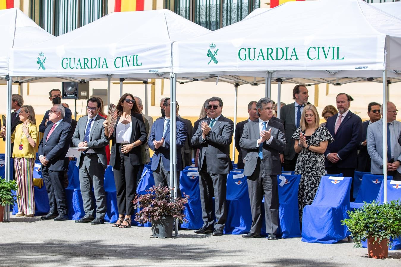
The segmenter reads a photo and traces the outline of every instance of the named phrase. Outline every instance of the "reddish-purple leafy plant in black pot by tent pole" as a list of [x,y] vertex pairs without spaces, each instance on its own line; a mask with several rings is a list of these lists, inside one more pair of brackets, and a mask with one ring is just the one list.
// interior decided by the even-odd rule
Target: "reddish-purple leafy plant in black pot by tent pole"
[[[173,188],[174,189],[174,188]],[[168,187],[153,186],[146,190],[144,195],[136,195],[134,201],[135,208],[142,208],[136,213],[135,221],[139,223],[152,223],[153,237],[171,238],[173,233],[174,220],[188,222],[181,213],[185,204],[188,203],[188,195],[183,198],[178,197],[174,202],[170,197],[171,189]]]

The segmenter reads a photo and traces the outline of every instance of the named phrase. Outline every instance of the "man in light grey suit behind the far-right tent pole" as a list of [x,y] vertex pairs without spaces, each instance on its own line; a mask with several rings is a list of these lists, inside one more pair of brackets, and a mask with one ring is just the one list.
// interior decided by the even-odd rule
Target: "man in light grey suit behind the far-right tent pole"
[[[387,102],[387,174],[393,180],[401,181],[401,145],[397,142],[401,132],[401,122],[397,118],[397,108],[393,102]],[[380,107],[383,115],[383,105]],[[371,173],[383,174],[383,118],[369,124],[367,147],[371,156]]]

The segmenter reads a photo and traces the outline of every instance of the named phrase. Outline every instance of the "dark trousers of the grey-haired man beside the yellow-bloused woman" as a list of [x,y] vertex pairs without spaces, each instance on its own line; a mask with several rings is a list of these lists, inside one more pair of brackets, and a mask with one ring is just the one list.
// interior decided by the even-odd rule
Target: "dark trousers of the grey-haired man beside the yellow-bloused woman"
[[44,167],[42,169],[42,176],[49,198],[50,212],[53,214],[68,215],[63,186],[64,171],[50,171],[47,167]]

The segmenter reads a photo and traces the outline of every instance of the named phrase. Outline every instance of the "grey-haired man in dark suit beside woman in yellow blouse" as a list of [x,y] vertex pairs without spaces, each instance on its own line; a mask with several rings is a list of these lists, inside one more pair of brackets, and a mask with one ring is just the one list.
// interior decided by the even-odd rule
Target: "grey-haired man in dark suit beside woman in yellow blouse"
[[50,211],[42,220],[68,220],[65,192],[62,185],[63,173],[68,167],[67,154],[73,135],[71,124],[63,120],[65,110],[62,105],[54,105],[49,111],[49,121],[43,139],[39,144],[38,159],[42,163],[42,176],[49,197]]

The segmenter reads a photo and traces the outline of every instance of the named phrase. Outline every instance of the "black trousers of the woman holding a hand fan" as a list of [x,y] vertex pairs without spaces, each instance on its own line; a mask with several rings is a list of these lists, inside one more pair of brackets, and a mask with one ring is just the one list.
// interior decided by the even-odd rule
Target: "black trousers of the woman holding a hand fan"
[[136,177],[140,165],[131,165],[130,156],[121,152],[121,145],[116,146],[115,165],[113,167],[115,189],[117,191],[118,213],[134,214],[132,201],[136,194]]

